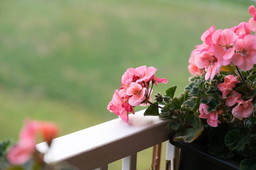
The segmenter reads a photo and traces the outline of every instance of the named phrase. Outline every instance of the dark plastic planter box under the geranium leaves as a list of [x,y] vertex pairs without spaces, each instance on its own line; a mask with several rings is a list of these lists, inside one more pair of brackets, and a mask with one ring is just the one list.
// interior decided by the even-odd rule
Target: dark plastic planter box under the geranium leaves
[[240,163],[233,160],[224,160],[210,155],[207,149],[194,143],[174,142],[170,143],[180,150],[179,170],[233,170],[240,169]]

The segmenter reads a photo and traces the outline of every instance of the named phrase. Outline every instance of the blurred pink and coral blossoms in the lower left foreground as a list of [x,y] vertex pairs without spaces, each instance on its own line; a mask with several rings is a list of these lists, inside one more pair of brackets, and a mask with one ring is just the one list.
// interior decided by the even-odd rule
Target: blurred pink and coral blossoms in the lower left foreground
[[58,128],[52,122],[39,122],[26,120],[20,131],[19,141],[7,154],[7,159],[11,164],[21,165],[32,158],[36,152],[36,138],[42,135],[43,141],[51,145],[52,139],[56,137]]

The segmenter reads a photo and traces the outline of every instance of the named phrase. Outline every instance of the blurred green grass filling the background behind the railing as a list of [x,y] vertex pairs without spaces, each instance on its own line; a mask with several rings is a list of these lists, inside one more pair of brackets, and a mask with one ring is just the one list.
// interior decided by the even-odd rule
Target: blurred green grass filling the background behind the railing
[[[224,29],[247,22],[251,4],[1,1],[0,139],[18,139],[26,117],[56,122],[60,135],[117,118],[106,106],[129,67],[156,67],[156,76],[170,83],[153,93],[178,85],[180,94],[201,34],[213,24]],[[150,166],[145,155],[151,150],[139,154],[138,169]]]

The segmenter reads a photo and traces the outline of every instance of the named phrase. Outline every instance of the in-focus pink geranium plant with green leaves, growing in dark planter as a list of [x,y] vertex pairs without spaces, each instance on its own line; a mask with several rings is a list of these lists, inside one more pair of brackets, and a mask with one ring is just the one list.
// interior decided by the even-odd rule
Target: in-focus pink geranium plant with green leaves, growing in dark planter
[[[150,106],[145,116],[170,118],[176,130],[174,141],[193,142],[207,138],[209,153],[236,159],[241,169],[256,168],[256,10],[252,18],[235,27],[216,30],[212,25],[201,36],[189,58],[193,75],[184,93],[175,97],[177,86],[150,94],[154,84],[167,83],[146,66],[127,69],[108,110],[128,122],[128,113],[138,105]],[[160,108],[160,112],[159,112]],[[205,141],[205,140],[204,140]]]

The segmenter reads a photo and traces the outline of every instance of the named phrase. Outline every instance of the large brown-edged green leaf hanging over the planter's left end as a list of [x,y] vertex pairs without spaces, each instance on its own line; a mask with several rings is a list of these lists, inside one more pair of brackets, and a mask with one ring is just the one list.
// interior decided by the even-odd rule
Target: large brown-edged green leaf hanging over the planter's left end
[[199,116],[194,114],[187,114],[187,120],[192,124],[193,128],[181,129],[175,134],[174,141],[181,141],[191,143],[195,141],[199,135],[203,132],[204,128],[201,124],[201,119]]

